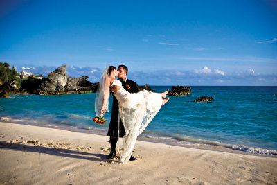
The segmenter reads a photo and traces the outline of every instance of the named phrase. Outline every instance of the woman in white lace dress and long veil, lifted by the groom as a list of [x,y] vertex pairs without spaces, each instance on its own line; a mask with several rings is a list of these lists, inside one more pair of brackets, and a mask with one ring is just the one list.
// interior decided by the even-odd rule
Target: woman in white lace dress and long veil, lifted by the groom
[[122,87],[116,76],[118,71],[113,66],[107,67],[102,73],[96,92],[95,111],[96,116],[104,116],[109,111],[110,88],[114,85],[119,86],[120,89],[114,92],[114,96],[118,100],[120,118],[126,133],[123,136],[123,152],[118,162],[124,163],[129,161],[132,155],[137,136],[145,130],[169,98],[166,98],[168,90],[161,94],[145,90],[131,94]]

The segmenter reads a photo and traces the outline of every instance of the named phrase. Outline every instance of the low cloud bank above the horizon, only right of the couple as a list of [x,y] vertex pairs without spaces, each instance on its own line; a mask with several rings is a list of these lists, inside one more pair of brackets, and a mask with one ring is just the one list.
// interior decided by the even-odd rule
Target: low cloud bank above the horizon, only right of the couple
[[[203,67],[195,71],[161,70],[161,71],[132,71],[129,79],[139,85],[276,85],[277,75],[263,75],[250,71],[224,73],[220,69]],[[224,75],[223,75],[224,74]],[[275,79],[275,81],[274,81]]]

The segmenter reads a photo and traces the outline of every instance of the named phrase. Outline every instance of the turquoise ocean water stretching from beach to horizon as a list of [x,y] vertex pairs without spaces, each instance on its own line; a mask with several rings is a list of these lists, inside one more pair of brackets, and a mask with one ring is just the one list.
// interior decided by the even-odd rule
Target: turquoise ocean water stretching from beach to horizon
[[[170,86],[152,86],[161,92]],[[212,96],[209,103],[194,103]],[[11,121],[35,121],[85,130],[109,127],[91,118],[95,94],[63,96],[15,95],[0,98],[0,117]],[[111,106],[111,100],[109,105]],[[110,108],[111,109],[111,108]],[[142,136],[176,143],[209,144],[234,150],[277,155],[277,87],[192,87],[188,96],[171,97]]]

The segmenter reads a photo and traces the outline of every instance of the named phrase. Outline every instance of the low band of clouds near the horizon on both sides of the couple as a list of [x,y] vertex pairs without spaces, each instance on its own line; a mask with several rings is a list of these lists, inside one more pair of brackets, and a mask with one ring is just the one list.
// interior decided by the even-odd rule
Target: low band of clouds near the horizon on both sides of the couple
[[[33,69],[35,74],[43,74],[54,71],[57,67],[36,66]],[[103,69],[97,67],[77,67],[69,66],[68,75],[71,77],[89,76],[91,82],[98,82]],[[224,74],[224,75],[223,75]],[[161,71],[136,71],[133,69],[128,74],[128,78],[144,85],[277,85],[277,74],[265,75],[256,73],[253,69],[237,71],[237,73],[224,73],[219,68],[186,71],[161,70]]]

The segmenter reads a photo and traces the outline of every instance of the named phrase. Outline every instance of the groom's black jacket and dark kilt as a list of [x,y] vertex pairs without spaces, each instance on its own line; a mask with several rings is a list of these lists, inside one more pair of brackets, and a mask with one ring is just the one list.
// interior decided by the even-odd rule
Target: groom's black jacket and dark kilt
[[[126,89],[129,93],[137,93],[139,92],[139,86],[136,82],[129,80],[125,82],[123,79],[119,78],[120,82],[122,82],[122,87]],[[129,88],[128,88],[129,86]],[[109,131],[108,136],[118,137],[118,100],[113,95],[113,105],[111,109],[111,122],[109,123]],[[125,135],[125,129],[121,119],[119,120],[119,137],[123,137]]]

